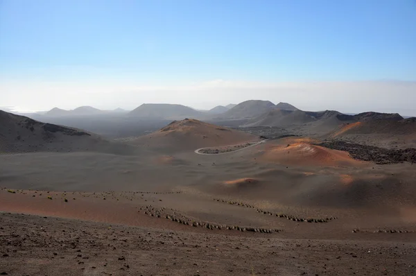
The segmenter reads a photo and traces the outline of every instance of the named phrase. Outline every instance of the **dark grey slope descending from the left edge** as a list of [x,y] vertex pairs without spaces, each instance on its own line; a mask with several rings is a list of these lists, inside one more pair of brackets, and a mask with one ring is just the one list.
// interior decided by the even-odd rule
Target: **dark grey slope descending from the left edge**
[[0,125],[0,153],[97,151],[127,154],[131,150],[83,130],[42,123],[1,110]]

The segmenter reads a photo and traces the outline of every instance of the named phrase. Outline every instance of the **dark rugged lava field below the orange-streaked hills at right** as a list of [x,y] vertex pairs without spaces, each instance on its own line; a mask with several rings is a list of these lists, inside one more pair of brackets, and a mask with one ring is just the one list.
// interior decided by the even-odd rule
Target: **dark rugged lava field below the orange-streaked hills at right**
[[316,145],[334,150],[344,150],[347,151],[354,159],[371,161],[376,164],[395,164],[403,162],[416,163],[416,148],[394,150],[336,140],[324,141]]

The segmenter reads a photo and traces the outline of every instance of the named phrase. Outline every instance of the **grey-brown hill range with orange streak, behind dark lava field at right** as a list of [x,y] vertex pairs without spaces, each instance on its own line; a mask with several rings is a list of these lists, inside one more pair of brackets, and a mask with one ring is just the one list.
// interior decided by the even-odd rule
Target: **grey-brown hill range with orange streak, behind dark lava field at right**
[[403,119],[399,114],[363,112],[350,115],[335,110],[303,112],[276,109],[241,125],[245,128],[259,126],[286,128],[290,134],[343,139],[368,146],[416,146],[415,119]]

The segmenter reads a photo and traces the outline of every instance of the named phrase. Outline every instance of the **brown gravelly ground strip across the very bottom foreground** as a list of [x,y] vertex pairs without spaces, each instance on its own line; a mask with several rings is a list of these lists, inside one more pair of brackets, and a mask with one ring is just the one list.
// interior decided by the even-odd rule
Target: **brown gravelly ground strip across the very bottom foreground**
[[416,273],[416,244],[407,242],[249,238],[6,213],[0,225],[1,275]]

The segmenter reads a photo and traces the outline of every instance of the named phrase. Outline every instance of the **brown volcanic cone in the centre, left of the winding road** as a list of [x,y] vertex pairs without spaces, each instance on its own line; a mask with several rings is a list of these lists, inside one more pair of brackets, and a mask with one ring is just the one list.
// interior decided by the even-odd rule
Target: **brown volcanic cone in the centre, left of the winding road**
[[258,137],[246,132],[223,128],[195,119],[184,119],[173,121],[161,130],[130,139],[128,142],[164,153],[173,153],[257,140]]

